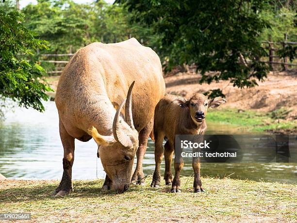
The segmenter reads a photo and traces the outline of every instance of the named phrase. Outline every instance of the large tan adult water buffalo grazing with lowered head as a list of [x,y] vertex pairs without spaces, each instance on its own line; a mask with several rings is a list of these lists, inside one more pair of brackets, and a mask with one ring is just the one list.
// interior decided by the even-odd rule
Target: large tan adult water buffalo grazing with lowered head
[[99,156],[107,173],[103,189],[122,192],[131,180],[143,184],[142,160],[154,109],[164,94],[158,55],[135,38],[114,44],[92,43],[77,51],[60,77],[55,98],[64,172],[54,195],[65,195],[73,189],[75,138],[88,141],[93,137],[100,147]]

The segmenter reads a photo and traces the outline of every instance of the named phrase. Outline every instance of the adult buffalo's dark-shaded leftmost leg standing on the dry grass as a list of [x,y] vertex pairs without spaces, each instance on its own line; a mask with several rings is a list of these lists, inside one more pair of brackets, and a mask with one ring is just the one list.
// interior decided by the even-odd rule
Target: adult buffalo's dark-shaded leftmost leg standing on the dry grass
[[72,165],[74,161],[74,137],[69,136],[66,129],[60,120],[60,137],[64,148],[63,158],[63,176],[60,185],[55,189],[54,196],[65,196],[73,191],[73,185],[71,181]]

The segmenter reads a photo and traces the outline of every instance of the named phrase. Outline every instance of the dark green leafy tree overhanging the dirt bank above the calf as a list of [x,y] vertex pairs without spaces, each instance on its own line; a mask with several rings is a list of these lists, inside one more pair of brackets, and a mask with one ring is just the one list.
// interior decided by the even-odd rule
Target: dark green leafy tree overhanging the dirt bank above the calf
[[[159,55],[168,69],[195,63],[201,82],[231,79],[233,86],[257,85],[268,67],[258,37],[269,23],[262,0],[116,0],[133,13],[132,22],[159,34]],[[207,71],[218,71],[207,75]]]

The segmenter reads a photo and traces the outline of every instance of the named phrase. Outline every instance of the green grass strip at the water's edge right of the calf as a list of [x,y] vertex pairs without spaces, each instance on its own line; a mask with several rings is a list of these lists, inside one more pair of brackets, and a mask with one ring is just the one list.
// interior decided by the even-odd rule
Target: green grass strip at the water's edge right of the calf
[[297,120],[284,120],[285,109],[273,112],[256,112],[251,110],[237,110],[232,108],[210,110],[207,120],[222,124],[232,124],[250,132],[292,132],[296,133]]

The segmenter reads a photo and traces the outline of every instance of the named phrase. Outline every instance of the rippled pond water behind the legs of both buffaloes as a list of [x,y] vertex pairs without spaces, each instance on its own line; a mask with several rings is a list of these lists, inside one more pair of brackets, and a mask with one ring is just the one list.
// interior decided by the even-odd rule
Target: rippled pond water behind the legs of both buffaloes
[[[59,136],[58,112],[54,102],[44,103],[46,112],[16,107],[5,113],[0,122],[0,173],[12,179],[61,179],[63,147]],[[208,134],[240,133],[231,125],[208,122]],[[76,140],[73,179],[104,178],[94,140]],[[136,158],[135,158],[136,162]],[[164,172],[165,163],[162,162]],[[154,144],[148,142],[143,169],[145,175],[154,171]],[[173,171],[174,172],[174,171]],[[297,164],[276,163],[202,163],[201,174],[239,179],[296,183]],[[192,165],[185,164],[181,175],[193,175]]]

